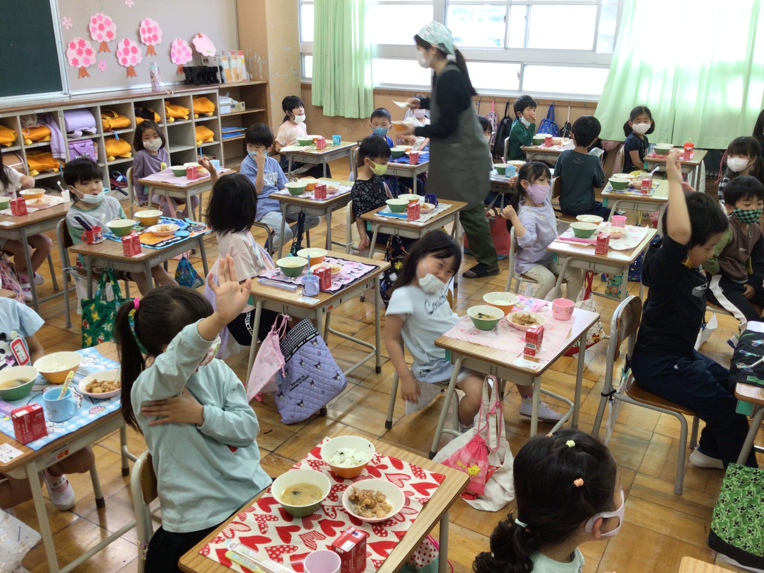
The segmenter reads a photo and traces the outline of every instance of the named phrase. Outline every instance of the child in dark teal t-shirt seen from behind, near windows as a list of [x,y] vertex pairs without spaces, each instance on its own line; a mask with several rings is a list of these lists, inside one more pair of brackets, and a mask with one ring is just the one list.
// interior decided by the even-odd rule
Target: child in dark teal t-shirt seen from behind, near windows
[[610,209],[594,198],[594,187],[605,184],[602,162],[588,153],[589,147],[600,137],[600,120],[584,115],[573,122],[571,134],[575,147],[560,154],[555,163],[555,176],[562,177],[560,211],[565,215],[610,216]]

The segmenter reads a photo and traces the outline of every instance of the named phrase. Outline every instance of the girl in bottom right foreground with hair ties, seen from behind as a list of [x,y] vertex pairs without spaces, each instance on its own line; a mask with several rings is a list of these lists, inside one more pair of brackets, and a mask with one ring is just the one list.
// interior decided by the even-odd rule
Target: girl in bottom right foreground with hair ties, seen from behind
[[583,542],[615,536],[624,497],[616,461],[578,430],[536,435],[514,461],[517,510],[490,536],[475,573],[579,573]]

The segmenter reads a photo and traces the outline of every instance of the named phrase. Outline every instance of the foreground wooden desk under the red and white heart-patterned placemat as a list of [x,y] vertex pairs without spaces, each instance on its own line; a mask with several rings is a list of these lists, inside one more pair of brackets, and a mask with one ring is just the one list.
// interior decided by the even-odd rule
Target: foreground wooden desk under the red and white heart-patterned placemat
[[[353,429],[345,428],[336,432],[331,437],[336,438],[340,435],[355,434],[357,434],[357,432]],[[445,571],[448,571],[448,510],[451,509],[452,505],[459,499],[461,492],[466,489],[469,484],[469,476],[463,471],[458,471],[442,464],[436,464],[434,461],[422,458],[420,455],[406,452],[393,445],[379,442],[374,439],[369,439],[369,442],[374,444],[374,448],[380,454],[405,460],[410,464],[416,464],[426,470],[445,475],[442,484],[440,484],[438,489],[432,493],[432,497],[430,497],[429,501],[425,504],[422,513],[419,513],[419,516],[416,517],[416,520],[406,532],[406,535],[401,537],[400,542],[393,548],[380,568],[377,569],[377,573],[393,573],[394,571],[399,571],[400,568],[403,567],[403,564],[409,560],[411,555],[413,555],[416,548],[419,547],[419,544],[429,535],[436,523],[440,524],[438,571],[439,573],[445,573]],[[306,452],[306,454],[307,453],[308,452]],[[251,507],[261,495],[262,494],[257,494],[257,496],[249,500],[248,503],[245,503],[244,507]],[[219,536],[220,532],[235,519],[236,515],[237,514],[234,513],[229,520],[226,520],[225,523],[215,529],[215,531],[210,533],[205,539],[202,539],[202,541],[186,553],[186,555],[183,555],[183,557],[180,558],[180,562],[178,562],[180,570],[186,571],[186,573],[231,573],[231,569],[201,555],[199,551],[201,551],[202,547],[212,539],[215,539],[216,536]],[[299,525],[299,520],[295,520],[295,523]],[[326,541],[331,542],[332,539],[327,539]]]

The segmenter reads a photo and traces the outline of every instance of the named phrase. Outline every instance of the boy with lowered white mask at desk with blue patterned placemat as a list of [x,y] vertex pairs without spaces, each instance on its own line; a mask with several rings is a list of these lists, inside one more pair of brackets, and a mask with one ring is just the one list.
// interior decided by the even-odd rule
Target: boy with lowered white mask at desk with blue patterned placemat
[[[74,204],[66,212],[66,228],[73,244],[83,242],[83,225],[75,219],[83,219],[91,227],[100,226],[108,231],[106,222],[127,219],[119,201],[109,197],[103,190],[101,167],[89,157],[77,157],[63,166],[63,180],[72,193]],[[108,239],[107,239],[108,241]],[[77,257],[76,267],[83,269],[83,262]],[[100,269],[97,269],[100,271]],[[134,280],[141,294],[149,291],[145,273],[115,272],[118,280]],[[151,277],[159,285],[177,284],[161,264],[151,267]]]

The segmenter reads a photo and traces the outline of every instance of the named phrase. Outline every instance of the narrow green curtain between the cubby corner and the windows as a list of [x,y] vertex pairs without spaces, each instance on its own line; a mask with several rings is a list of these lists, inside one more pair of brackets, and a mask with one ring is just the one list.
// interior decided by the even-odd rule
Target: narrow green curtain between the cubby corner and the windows
[[319,0],[313,29],[312,103],[324,115],[368,118],[374,111],[367,0]]

